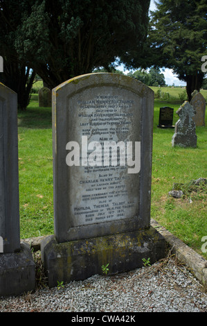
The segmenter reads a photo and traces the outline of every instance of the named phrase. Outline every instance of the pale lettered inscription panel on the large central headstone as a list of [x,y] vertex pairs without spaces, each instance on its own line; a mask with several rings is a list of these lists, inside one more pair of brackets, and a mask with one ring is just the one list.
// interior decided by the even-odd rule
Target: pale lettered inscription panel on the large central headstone
[[141,141],[138,105],[141,103],[135,94],[113,87],[102,87],[100,94],[98,89],[97,92],[93,89],[84,91],[81,98],[78,94],[69,98],[68,139],[80,144],[82,162],[81,166],[68,167],[71,169],[69,202],[74,226],[138,215],[139,173],[127,173],[128,166],[121,164],[119,155],[117,166],[112,166],[111,148],[108,165],[100,157],[93,157],[99,164],[89,166],[87,157],[95,148],[88,148],[87,153],[83,153],[81,148],[82,136],[87,136],[88,142],[94,141],[94,146],[101,144],[102,148],[105,141],[123,141],[125,144],[127,141]]

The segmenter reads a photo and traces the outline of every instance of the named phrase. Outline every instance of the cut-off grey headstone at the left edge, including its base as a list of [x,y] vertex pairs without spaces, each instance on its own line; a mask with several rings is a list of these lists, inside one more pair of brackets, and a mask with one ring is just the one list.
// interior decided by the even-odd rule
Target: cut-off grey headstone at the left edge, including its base
[[0,83],[0,296],[35,289],[35,263],[20,243],[17,94]]

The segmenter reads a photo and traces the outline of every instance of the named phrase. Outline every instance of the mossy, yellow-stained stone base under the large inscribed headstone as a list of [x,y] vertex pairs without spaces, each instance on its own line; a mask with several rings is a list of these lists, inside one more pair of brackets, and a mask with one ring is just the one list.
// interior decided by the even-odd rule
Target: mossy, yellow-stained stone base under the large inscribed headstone
[[48,286],[58,282],[86,280],[102,275],[102,265],[109,264],[109,275],[132,271],[143,266],[143,258],[150,264],[165,257],[165,239],[157,230],[145,230],[57,243],[55,236],[41,242],[42,261]]

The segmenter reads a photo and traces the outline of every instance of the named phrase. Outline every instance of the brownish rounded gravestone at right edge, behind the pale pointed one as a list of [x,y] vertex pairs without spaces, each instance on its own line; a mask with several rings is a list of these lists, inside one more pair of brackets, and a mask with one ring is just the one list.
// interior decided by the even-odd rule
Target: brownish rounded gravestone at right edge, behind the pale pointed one
[[191,95],[192,98],[190,101],[190,105],[193,106],[196,112],[192,120],[195,122],[195,126],[205,126],[205,112],[206,112],[205,98],[196,89]]

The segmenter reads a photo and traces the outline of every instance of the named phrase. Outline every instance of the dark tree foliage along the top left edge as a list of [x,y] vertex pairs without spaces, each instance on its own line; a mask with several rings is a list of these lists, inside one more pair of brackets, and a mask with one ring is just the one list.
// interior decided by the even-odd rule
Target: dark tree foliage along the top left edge
[[19,58],[15,48],[16,30],[21,21],[22,10],[28,1],[0,0],[0,54],[3,57],[1,83],[18,95],[18,108],[25,110],[30,100],[35,72],[30,71],[26,58]]

